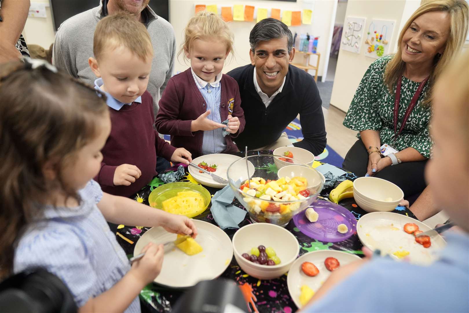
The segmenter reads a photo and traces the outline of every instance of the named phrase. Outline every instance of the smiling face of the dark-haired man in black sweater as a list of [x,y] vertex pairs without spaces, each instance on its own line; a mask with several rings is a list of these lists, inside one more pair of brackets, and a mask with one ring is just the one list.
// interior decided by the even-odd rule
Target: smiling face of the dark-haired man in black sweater
[[287,75],[293,61],[295,48],[288,53],[287,37],[260,41],[255,51],[249,51],[251,64],[256,67],[257,83],[269,97],[276,92]]

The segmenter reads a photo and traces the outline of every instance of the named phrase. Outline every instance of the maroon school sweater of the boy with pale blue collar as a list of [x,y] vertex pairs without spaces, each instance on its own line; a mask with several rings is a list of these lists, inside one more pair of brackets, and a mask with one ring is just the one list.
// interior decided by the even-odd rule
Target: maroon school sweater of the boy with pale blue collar
[[[158,136],[153,129],[153,99],[149,92],[142,103],[124,105],[119,111],[109,107],[111,134],[103,150],[101,170],[94,178],[104,192],[129,197],[151,182],[156,173],[157,155],[170,160],[176,148]],[[130,186],[114,186],[114,172],[121,164],[135,165],[142,172]]]

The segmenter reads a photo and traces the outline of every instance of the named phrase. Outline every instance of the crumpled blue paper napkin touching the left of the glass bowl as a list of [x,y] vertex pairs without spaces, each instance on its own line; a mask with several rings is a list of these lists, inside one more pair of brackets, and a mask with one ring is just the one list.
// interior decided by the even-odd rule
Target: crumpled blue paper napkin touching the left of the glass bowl
[[210,211],[212,211],[213,219],[221,229],[239,228],[238,224],[246,216],[246,211],[231,205],[233,199],[234,191],[229,184],[213,195]]

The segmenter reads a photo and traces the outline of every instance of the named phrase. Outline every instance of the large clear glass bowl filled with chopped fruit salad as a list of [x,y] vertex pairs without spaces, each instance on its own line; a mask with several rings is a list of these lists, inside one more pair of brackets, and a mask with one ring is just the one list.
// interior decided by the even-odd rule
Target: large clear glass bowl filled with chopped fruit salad
[[316,169],[295,159],[292,159],[295,164],[279,170],[275,157],[284,156],[251,155],[247,157],[247,164],[246,158],[236,160],[229,166],[227,177],[251,221],[285,227],[295,214],[305,210],[318,197],[324,179]]

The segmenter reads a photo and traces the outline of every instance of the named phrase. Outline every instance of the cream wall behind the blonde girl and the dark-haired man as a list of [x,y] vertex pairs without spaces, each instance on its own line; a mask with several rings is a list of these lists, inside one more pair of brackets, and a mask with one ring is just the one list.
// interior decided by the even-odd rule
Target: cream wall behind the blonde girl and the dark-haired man
[[[194,9],[196,4],[216,4],[218,6],[219,13],[221,12],[221,7],[233,6],[233,4],[242,4],[242,5],[251,5],[255,7],[254,10],[254,21],[253,22],[230,22],[229,27],[234,33],[234,49],[235,49],[235,59],[231,63],[226,64],[223,72],[237,68],[242,65],[250,63],[249,59],[249,33],[256,23],[256,13],[257,8],[267,8],[268,16],[270,17],[271,8],[279,8],[281,10],[291,10],[291,11],[302,11],[303,8],[312,8],[312,23],[311,25],[301,25],[296,27],[290,27],[293,35],[297,33],[306,33],[310,35],[319,36],[318,42],[318,52],[321,53],[321,59],[319,62],[319,76],[323,75],[325,69],[327,48],[329,38],[331,37],[330,25],[334,19],[333,8],[335,6],[336,0],[327,0],[327,1],[305,1],[297,0],[296,2],[284,2],[284,1],[267,1],[267,0],[253,0],[253,1],[203,1],[203,0],[171,0],[169,15],[171,24],[174,27],[174,33],[176,35],[176,43],[179,45],[182,42],[182,34],[184,27],[186,26],[189,18],[194,15]],[[183,71],[189,66],[184,64],[182,58],[175,63],[174,70]],[[314,74],[314,71],[310,71],[311,74]]]

